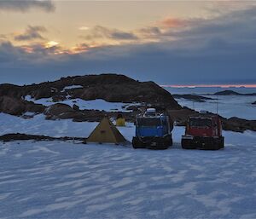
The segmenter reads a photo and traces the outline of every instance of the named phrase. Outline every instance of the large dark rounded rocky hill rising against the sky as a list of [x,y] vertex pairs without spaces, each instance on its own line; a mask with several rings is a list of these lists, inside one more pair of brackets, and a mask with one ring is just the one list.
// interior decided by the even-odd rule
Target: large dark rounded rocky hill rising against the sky
[[[79,88],[65,89],[73,85],[79,85]],[[80,98],[85,101],[102,99],[110,102],[145,102],[160,107],[181,108],[166,89],[154,82],[139,82],[117,74],[67,77],[55,82],[25,86],[2,84],[1,95],[17,99],[31,95],[36,100],[52,97],[53,101]]]

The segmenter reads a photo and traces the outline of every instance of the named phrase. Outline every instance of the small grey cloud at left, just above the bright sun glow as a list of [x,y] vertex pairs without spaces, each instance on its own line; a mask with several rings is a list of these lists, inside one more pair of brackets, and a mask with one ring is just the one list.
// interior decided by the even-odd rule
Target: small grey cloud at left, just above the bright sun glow
[[17,41],[28,41],[33,39],[44,39],[41,33],[47,32],[44,26],[27,26],[26,31],[15,36]]

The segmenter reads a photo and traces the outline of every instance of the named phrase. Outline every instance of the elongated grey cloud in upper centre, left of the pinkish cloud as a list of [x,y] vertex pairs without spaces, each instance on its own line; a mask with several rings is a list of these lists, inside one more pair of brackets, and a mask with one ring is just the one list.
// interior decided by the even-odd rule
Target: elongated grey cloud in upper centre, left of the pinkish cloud
[[90,32],[84,36],[84,39],[112,39],[112,40],[135,40],[137,36],[132,32],[123,32],[118,29],[109,29],[104,26],[95,26]]

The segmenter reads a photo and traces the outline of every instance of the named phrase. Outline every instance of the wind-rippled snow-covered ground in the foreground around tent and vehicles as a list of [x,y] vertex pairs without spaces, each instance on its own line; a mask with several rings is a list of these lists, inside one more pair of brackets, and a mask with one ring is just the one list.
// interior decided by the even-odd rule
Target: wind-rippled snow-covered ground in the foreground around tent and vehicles
[[[87,136],[96,123],[0,113],[0,135]],[[128,124],[120,131],[134,135]],[[225,131],[220,151],[151,151],[79,141],[0,142],[1,218],[255,218],[256,134]]]

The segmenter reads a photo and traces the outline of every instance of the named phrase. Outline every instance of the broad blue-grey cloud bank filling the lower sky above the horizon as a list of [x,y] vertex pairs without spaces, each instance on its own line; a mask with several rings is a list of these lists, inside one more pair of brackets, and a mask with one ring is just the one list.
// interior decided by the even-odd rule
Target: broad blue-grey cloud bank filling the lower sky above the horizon
[[[0,46],[0,72],[14,76],[25,72],[17,83],[102,72],[124,73],[159,84],[256,83],[255,22],[256,8],[236,10],[218,18],[198,20],[178,32],[173,32],[172,27],[165,32],[160,27],[145,27],[144,34],[159,37],[160,41],[155,43],[97,48],[80,44],[75,55],[68,51],[58,53],[61,48],[52,52],[40,47],[27,54],[5,43]],[[167,40],[168,36],[175,39]],[[1,81],[3,75],[0,74]]]

